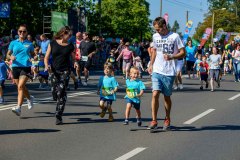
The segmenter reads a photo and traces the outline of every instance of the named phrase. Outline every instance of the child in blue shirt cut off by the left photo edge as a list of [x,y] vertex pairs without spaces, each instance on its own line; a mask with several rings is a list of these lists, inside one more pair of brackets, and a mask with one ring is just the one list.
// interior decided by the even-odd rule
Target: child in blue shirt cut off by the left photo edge
[[7,71],[10,71],[10,68],[7,64],[2,60],[2,53],[0,53],[0,104],[4,103],[3,99],[3,89],[4,89],[4,82],[7,77]]

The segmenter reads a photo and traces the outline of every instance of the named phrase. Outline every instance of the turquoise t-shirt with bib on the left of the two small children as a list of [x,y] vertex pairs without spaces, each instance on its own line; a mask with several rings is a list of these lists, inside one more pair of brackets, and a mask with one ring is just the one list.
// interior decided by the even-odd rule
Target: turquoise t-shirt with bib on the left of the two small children
[[115,101],[116,93],[112,94],[112,91],[118,86],[119,85],[115,77],[101,76],[98,82],[98,87],[101,88],[100,97]]

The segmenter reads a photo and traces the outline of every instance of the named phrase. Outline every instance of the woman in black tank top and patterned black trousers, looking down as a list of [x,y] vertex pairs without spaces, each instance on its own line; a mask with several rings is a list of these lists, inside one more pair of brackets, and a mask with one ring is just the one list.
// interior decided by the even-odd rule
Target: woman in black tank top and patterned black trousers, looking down
[[48,70],[49,57],[52,55],[53,62],[51,64],[51,69],[54,75],[52,79],[52,94],[53,99],[57,100],[56,125],[62,124],[62,114],[67,100],[66,88],[72,63],[70,61],[70,56],[72,56],[74,68],[78,67],[78,63],[75,61],[74,45],[68,43],[70,37],[70,28],[68,26],[61,28],[54,36],[54,40],[48,45],[44,59],[45,70]]

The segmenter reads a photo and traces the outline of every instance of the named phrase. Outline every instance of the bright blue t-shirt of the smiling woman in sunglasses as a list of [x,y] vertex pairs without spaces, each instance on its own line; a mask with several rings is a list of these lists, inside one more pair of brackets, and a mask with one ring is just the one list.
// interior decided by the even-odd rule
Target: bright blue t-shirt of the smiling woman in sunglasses
[[19,39],[16,39],[10,43],[8,50],[16,57],[12,63],[12,67],[31,67],[30,53],[34,51],[32,42],[28,40],[21,42]]

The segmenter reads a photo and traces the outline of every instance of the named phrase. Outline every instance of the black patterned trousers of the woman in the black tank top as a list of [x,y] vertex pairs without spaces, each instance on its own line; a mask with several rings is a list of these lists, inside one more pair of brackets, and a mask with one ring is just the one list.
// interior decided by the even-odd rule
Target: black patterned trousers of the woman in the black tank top
[[51,77],[53,100],[57,101],[56,117],[61,117],[67,101],[66,89],[69,82],[69,71],[54,71]]

